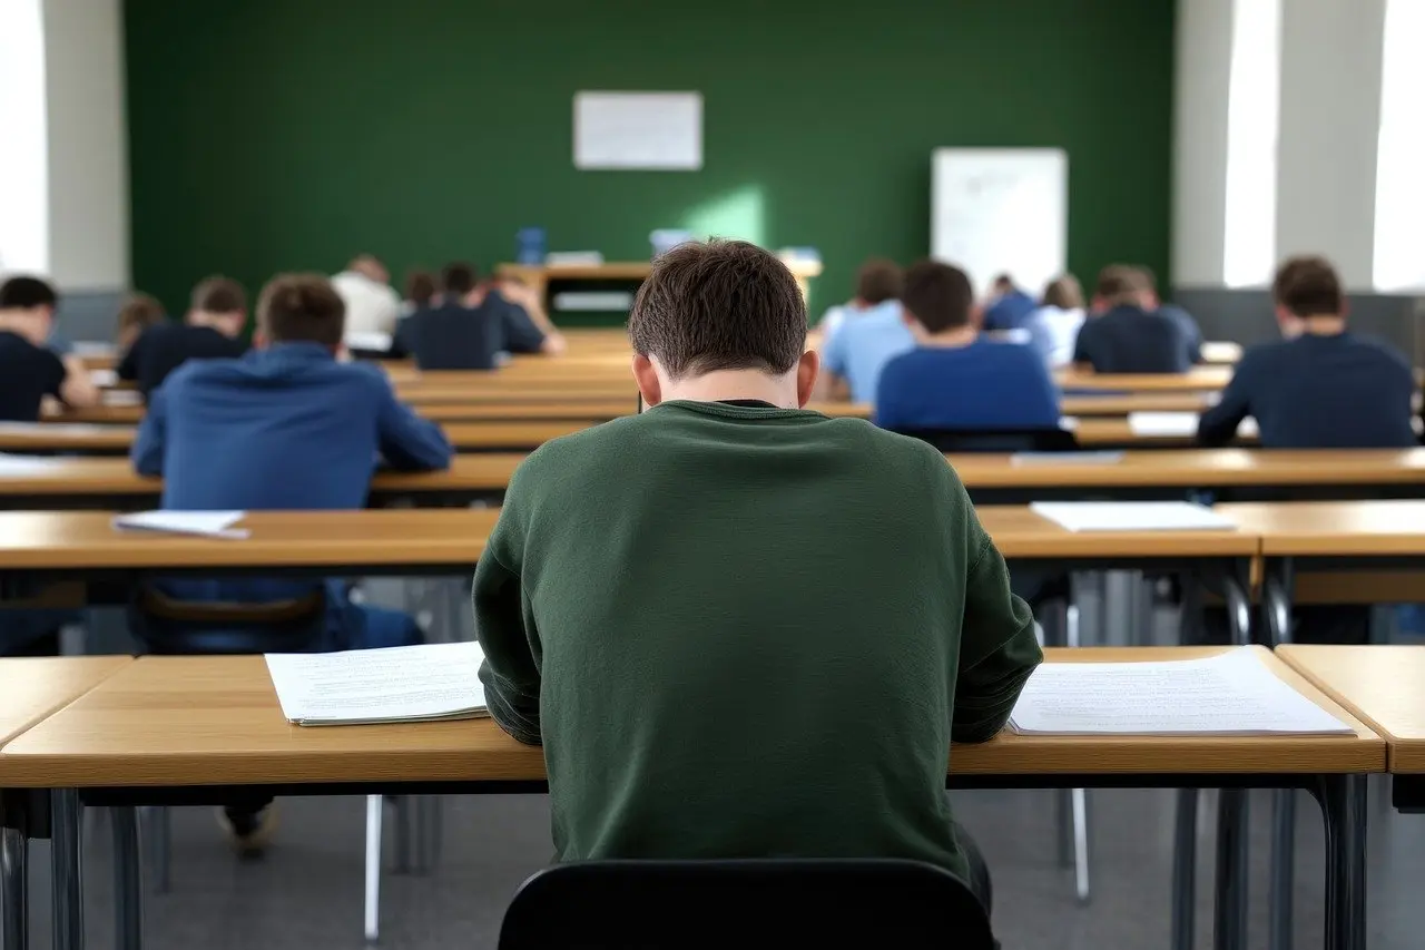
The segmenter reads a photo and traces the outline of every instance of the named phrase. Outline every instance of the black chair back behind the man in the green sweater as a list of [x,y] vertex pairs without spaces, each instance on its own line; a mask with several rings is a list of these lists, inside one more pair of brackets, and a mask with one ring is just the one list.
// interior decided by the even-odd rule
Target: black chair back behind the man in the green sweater
[[520,886],[499,950],[993,950],[949,872],[908,860],[583,862]]

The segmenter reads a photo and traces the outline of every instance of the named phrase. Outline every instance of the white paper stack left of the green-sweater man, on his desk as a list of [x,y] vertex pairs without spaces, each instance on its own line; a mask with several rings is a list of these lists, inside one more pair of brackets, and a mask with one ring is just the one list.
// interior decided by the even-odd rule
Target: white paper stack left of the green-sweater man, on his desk
[[282,715],[299,726],[487,716],[483,659],[479,643],[266,656]]

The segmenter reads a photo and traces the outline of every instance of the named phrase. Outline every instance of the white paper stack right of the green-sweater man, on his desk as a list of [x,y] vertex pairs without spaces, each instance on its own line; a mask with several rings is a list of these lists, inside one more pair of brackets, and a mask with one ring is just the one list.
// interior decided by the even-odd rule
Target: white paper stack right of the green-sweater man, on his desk
[[1066,736],[1354,732],[1273,675],[1250,648],[1196,660],[1043,663],[1025,683],[1009,725]]

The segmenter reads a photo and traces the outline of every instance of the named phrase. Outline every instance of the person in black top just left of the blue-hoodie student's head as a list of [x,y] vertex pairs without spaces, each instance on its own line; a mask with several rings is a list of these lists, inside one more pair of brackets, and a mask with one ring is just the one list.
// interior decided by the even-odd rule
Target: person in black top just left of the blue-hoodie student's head
[[209,277],[192,288],[184,322],[158,322],[140,334],[118,362],[118,378],[131,379],[150,398],[174,369],[190,359],[232,359],[247,352],[242,327],[248,295],[227,277]]

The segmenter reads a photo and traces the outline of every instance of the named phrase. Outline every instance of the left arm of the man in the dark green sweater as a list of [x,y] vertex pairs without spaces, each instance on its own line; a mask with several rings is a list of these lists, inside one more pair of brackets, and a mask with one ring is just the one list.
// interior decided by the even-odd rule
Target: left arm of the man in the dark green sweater
[[524,548],[517,476],[475,568],[475,636],[484,650],[480,682],[490,717],[526,745],[540,745],[539,630],[520,578]]

